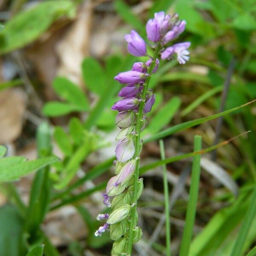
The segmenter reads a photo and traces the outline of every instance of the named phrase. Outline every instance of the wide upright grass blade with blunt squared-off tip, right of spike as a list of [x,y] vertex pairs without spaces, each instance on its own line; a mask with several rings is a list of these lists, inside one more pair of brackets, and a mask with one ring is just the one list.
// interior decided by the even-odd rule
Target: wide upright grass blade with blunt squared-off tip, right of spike
[[[200,151],[202,148],[202,138],[196,135],[194,138],[194,151]],[[200,180],[200,160],[201,154],[193,158],[191,185],[189,189],[189,202],[186,212],[186,222],[183,231],[182,241],[180,245],[180,256],[189,254],[190,241],[193,234],[193,226],[195,223],[196,205],[198,200],[199,180]]]

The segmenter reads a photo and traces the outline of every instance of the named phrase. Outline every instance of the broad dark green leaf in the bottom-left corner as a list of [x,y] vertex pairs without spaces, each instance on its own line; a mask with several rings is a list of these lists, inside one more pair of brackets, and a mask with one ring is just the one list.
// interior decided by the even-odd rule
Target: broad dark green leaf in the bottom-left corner
[[6,205],[0,208],[0,255],[26,255],[27,250],[22,243],[23,219],[17,208]]

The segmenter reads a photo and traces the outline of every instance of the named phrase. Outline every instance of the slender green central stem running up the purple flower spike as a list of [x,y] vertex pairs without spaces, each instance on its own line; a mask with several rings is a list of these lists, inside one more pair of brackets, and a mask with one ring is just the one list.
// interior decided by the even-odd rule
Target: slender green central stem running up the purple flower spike
[[141,99],[142,101],[139,104],[139,110],[137,113],[137,122],[136,122],[136,127],[135,127],[135,154],[134,158],[138,157],[138,160],[136,162],[136,167],[135,167],[135,172],[134,172],[134,196],[133,196],[133,201],[135,203],[135,206],[133,207],[131,211],[131,222],[130,222],[130,231],[129,231],[129,240],[128,240],[128,254],[131,255],[132,252],[132,244],[133,244],[133,238],[134,238],[134,227],[136,225],[135,223],[135,215],[137,211],[137,197],[138,197],[138,180],[139,180],[139,166],[140,166],[140,148],[141,148],[141,143],[140,143],[140,130],[141,130],[141,122],[142,122],[142,116],[143,116],[143,108],[145,105],[145,99],[146,95],[148,92],[148,84],[151,79],[152,71],[154,69],[154,64],[157,59],[157,56],[160,52],[160,44],[157,45],[156,50],[154,52],[154,57],[152,59],[152,62],[148,68],[148,76],[145,80],[145,83],[143,84],[143,91],[142,91],[142,96]]

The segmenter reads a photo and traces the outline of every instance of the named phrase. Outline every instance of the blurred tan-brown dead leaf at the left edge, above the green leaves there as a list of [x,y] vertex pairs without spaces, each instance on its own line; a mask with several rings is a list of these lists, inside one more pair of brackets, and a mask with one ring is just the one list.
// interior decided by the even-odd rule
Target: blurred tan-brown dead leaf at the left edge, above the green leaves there
[[0,92],[0,144],[10,143],[19,137],[26,110],[26,96],[22,90]]

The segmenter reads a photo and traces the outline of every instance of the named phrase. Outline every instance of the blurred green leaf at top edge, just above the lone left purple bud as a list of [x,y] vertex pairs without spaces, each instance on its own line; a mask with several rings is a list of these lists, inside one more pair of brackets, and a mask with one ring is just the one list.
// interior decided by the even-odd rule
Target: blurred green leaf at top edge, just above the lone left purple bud
[[128,6],[125,1],[123,0],[116,0],[114,2],[114,6],[116,12],[122,17],[122,19],[130,24],[133,28],[137,29],[138,31],[144,28],[143,23],[141,20],[131,12],[131,7]]

